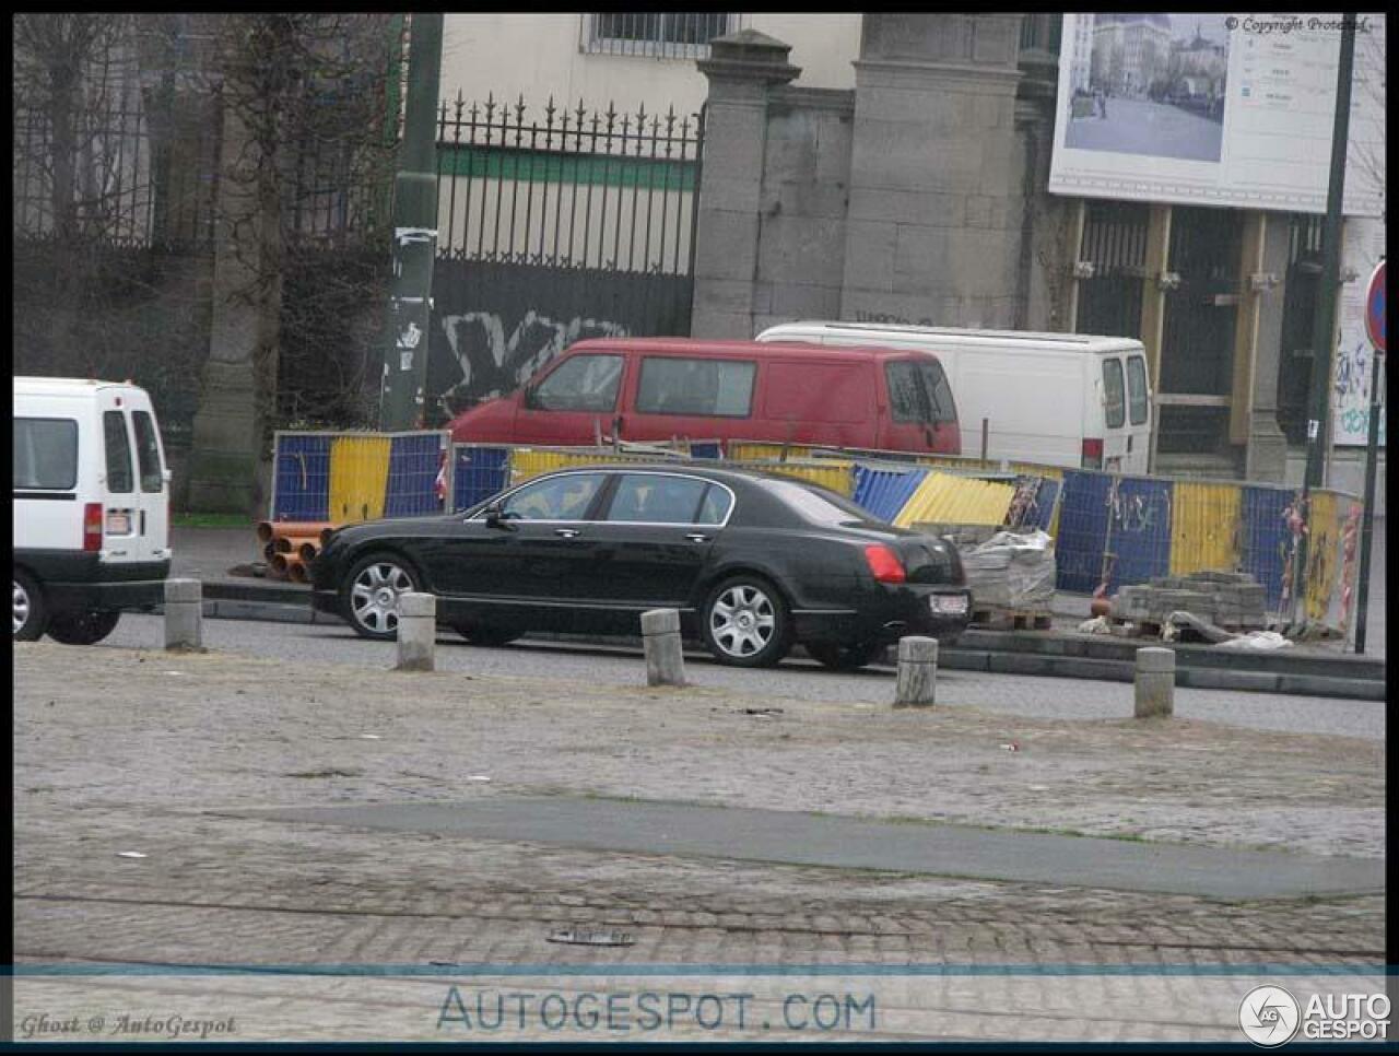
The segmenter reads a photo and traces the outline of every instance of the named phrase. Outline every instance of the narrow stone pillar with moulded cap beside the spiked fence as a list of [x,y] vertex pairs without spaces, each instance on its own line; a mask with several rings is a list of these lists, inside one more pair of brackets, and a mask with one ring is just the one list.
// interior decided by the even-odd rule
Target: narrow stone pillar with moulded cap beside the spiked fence
[[802,73],[786,60],[790,50],[757,29],[741,29],[711,41],[709,57],[698,63],[709,78],[709,97],[695,225],[694,337],[754,334],[768,94]]

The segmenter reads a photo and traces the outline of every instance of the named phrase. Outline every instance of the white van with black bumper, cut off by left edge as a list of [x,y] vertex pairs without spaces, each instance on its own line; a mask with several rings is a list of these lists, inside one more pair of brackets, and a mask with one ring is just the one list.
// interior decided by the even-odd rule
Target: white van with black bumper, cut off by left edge
[[143,389],[14,379],[17,641],[91,645],[164,601],[169,476]]

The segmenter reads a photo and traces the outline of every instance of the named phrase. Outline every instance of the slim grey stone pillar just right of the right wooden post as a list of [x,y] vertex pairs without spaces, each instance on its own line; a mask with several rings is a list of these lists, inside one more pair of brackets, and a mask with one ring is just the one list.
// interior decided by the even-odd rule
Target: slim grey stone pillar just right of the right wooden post
[[1283,302],[1286,301],[1290,227],[1283,213],[1266,213],[1262,224],[1259,270],[1277,276],[1277,285],[1258,297],[1254,330],[1254,389],[1251,393],[1247,480],[1281,484],[1287,474],[1287,438],[1277,425],[1277,372],[1283,352]]

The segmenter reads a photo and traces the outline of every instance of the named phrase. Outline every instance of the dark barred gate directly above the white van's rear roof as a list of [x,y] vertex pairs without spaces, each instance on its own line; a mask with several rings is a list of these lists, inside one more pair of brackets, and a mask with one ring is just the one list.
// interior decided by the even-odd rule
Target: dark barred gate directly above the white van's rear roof
[[1137,201],[1088,201],[1079,259],[1093,276],[1079,284],[1074,329],[1087,334],[1142,334],[1142,276],[1150,207]]

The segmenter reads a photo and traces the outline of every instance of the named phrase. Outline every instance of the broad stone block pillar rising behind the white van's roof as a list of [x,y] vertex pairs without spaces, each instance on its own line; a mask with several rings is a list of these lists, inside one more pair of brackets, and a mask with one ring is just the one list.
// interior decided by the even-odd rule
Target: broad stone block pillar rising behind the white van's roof
[[1021,18],[865,15],[841,317],[1014,324]]

